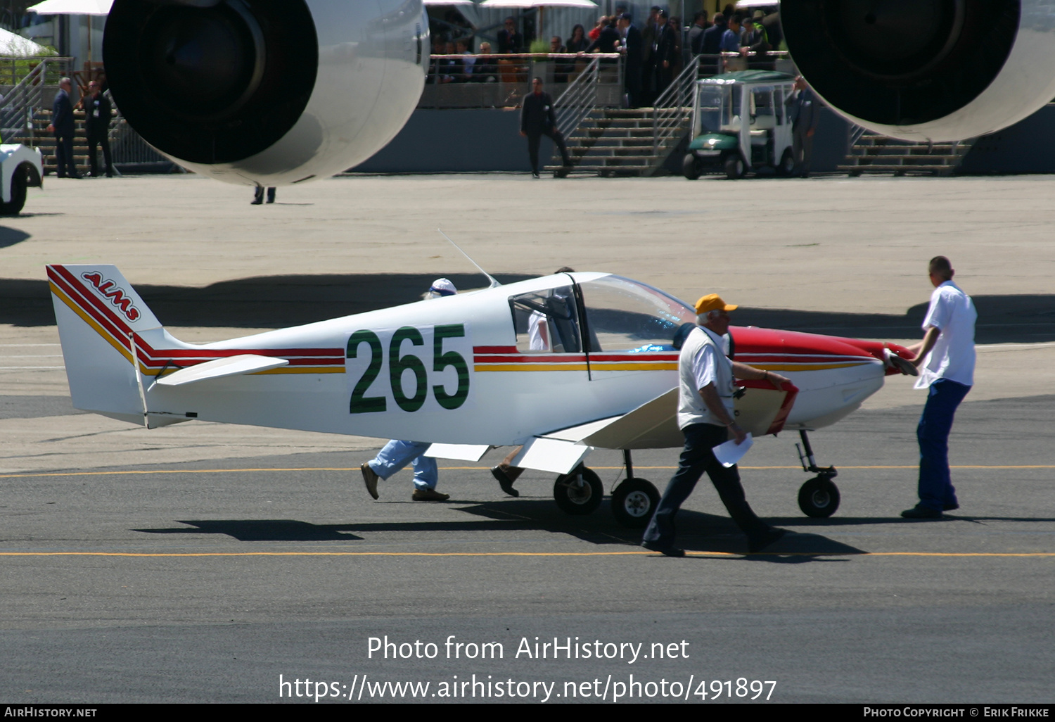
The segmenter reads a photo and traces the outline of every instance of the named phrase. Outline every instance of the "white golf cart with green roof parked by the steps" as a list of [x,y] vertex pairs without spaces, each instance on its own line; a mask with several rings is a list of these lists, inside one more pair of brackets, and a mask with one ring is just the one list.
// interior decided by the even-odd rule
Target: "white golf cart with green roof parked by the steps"
[[696,81],[692,141],[682,162],[685,177],[748,171],[790,175],[791,122],[784,101],[794,76],[775,71],[734,71]]

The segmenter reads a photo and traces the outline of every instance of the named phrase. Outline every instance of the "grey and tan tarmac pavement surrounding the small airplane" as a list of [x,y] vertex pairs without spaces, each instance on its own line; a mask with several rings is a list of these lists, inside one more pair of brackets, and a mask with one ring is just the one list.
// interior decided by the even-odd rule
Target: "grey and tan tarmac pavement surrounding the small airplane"
[[[385,681],[429,682],[428,701],[510,699],[440,691],[476,674],[522,701],[612,701],[633,673],[653,701],[671,699],[660,679],[688,701],[730,697],[714,682],[751,701],[743,678],[774,682],[770,702],[1051,702],[1052,184],[350,176],[254,207],[195,176],[49,177],[0,227],[0,700],[309,699],[280,674],[327,700],[380,700]],[[413,300],[437,276],[464,287],[473,269],[437,226],[499,278],[610,270],[689,300],[721,292],[740,323],[905,341],[920,337],[926,261],[948,255],[980,311],[951,441],[962,508],[898,516],[915,501],[922,403],[900,377],[811,435],[840,469],[833,517],[799,511],[806,475],[782,434],[742,474],[760,515],[794,534],[746,554],[703,481],[679,516],[686,559],[636,547],[607,501],[564,516],[545,474],[505,497],[486,471],[498,451],[441,462],[449,502],[411,502],[409,472],[375,502],[358,466],[378,440],[148,432],[69,405],[45,263],[116,263],[175,336],[215,340]],[[661,489],[676,456],[637,453],[635,470]],[[610,491],[619,455],[590,463]],[[437,657],[379,659],[370,638],[385,635]],[[452,635],[477,656],[449,657]],[[602,658],[529,657],[536,636],[599,641]],[[494,642],[504,656],[480,659]],[[605,657],[608,643],[649,656]]]

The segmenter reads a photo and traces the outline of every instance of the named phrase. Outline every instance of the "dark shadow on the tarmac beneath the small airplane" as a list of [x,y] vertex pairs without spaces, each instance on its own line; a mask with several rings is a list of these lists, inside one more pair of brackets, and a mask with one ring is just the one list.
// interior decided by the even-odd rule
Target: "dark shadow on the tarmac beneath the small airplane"
[[[624,529],[612,520],[607,501],[589,516],[568,516],[554,509],[552,501],[541,499],[510,499],[499,504],[482,502],[454,508],[482,518],[464,521],[371,521],[331,525],[315,525],[295,519],[187,519],[177,521],[187,525],[186,527],[133,531],[147,534],[223,534],[239,542],[357,542],[365,539],[360,534],[377,532],[465,534],[532,530],[567,534],[598,546],[636,546],[641,538],[640,530]],[[747,540],[727,517],[683,510],[678,514],[677,524],[678,544],[690,552],[744,554],[747,551]],[[755,556],[798,564],[819,556],[861,553],[863,553],[861,549],[820,534],[788,533],[767,549],[765,554]]]

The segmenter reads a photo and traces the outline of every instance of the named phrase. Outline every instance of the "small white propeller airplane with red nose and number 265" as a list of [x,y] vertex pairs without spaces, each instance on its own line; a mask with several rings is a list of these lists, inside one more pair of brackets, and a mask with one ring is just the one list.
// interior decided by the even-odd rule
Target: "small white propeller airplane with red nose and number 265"
[[[555,273],[506,286],[346,316],[216,343],[173,338],[115,266],[50,265],[73,404],[162,426],[191,419],[428,441],[428,455],[478,461],[523,444],[514,463],[559,474],[554,496],[572,514],[601,501],[582,463],[594,449],[625,455],[612,492],[616,518],[648,522],[658,502],[636,478],[635,449],[682,446],[675,422],[675,338],[688,304],[611,273]],[[861,405],[901,346],[733,327],[731,355],[791,379],[741,382],[741,425],[755,436],[798,430],[799,494],[810,516],[839,506],[833,468],[819,468],[807,431]],[[808,463],[807,463],[808,462]]]

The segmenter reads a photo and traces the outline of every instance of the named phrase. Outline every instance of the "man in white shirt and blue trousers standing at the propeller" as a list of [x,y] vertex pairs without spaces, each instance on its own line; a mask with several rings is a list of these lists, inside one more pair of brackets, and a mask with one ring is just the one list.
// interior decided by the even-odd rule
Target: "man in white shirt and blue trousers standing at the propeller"
[[920,444],[920,501],[901,512],[907,519],[937,519],[959,509],[948,472],[948,432],[960,401],[975,382],[975,321],[971,297],[953,283],[952,264],[944,255],[931,259],[931,306],[923,319],[923,340],[909,346],[909,363],[920,369],[916,388],[928,388],[916,429]]

